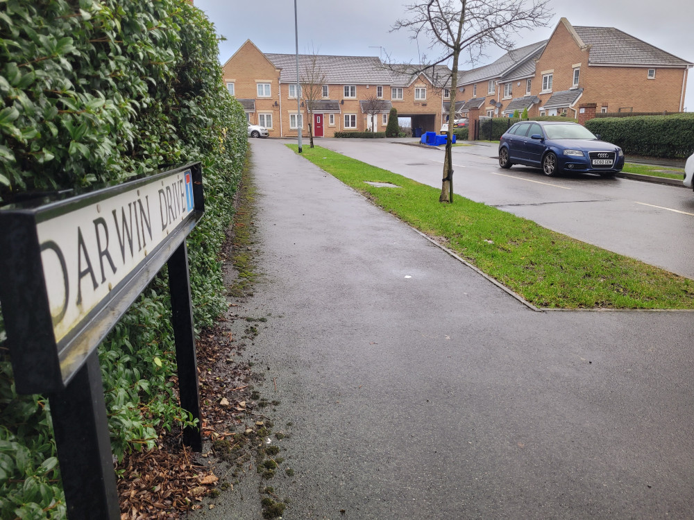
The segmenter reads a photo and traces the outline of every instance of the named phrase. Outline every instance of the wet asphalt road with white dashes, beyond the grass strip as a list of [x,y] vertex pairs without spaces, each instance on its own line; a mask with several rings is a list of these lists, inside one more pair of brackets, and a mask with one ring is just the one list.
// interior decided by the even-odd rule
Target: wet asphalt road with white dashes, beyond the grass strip
[[[321,146],[441,187],[443,150],[363,139]],[[539,169],[499,168],[496,146],[453,148],[455,193],[543,227],[694,278],[694,193],[677,186]]]

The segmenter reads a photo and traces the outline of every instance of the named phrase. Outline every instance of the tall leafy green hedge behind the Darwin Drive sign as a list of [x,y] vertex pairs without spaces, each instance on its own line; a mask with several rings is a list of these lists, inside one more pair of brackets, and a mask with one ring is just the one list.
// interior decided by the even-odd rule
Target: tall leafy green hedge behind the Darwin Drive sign
[[[197,327],[226,309],[219,252],[248,146],[217,42],[185,0],[0,2],[0,203],[200,160],[205,217],[188,239]],[[99,349],[119,458],[189,421],[171,383],[167,286],[164,270]],[[0,518],[63,519],[48,401],[16,395],[7,341],[0,320]]]

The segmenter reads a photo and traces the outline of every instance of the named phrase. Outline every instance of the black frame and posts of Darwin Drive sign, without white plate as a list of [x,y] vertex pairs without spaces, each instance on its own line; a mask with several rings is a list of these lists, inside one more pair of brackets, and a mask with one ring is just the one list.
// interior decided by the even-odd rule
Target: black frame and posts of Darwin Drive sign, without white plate
[[[53,302],[51,313],[51,280],[46,280],[46,272],[49,270],[46,270],[47,261],[46,257],[42,258],[42,252],[52,249],[55,257],[60,260],[65,281],[65,305],[69,293],[67,266],[65,259],[56,254],[57,245],[53,247],[46,245],[46,240],[40,241],[42,223],[52,218],[69,216],[71,212],[81,215],[76,212],[85,208],[95,207],[96,211],[101,211],[101,205],[105,208],[108,201],[115,200],[124,193],[134,192],[139,196],[140,191],[144,193],[153,187],[162,191],[156,183],[162,184],[175,177],[180,184],[178,179],[181,175],[187,181],[186,192],[174,193],[174,198],[178,196],[181,203],[185,198],[185,211],[174,211],[175,207],[169,198],[167,209],[160,209],[162,220],[163,211],[170,211],[171,216],[169,220],[167,213],[171,227],[161,230],[163,238],[151,242],[151,251],[144,249],[142,258],[137,257],[137,263],[130,266],[115,285],[108,286],[105,296],[94,300],[95,303],[83,315],[78,314],[74,326],[57,334],[56,322],[60,322],[64,312],[58,312],[56,318],[56,306]],[[181,188],[183,189],[182,185]],[[162,200],[159,202],[161,205]],[[164,202],[167,202],[166,194]],[[194,419],[198,419],[200,424],[192,298],[185,240],[203,212],[202,168],[199,162],[72,198],[34,200],[29,204],[0,208],[0,272],[3,273],[0,277],[0,302],[15,387],[20,394],[49,394],[60,472],[68,517],[71,520],[120,519],[108,417],[96,347],[164,263],[169,268],[171,322],[176,344],[180,405]],[[117,225],[116,214],[113,218]],[[105,279],[103,260],[108,257],[108,231],[104,235],[104,228],[99,227],[101,223],[97,224],[96,220],[94,222],[101,263],[100,274]],[[125,232],[123,235],[125,236]],[[104,239],[107,241],[106,245],[100,243]],[[85,246],[83,243],[81,246],[86,259]],[[79,251],[81,246],[78,246],[78,263],[82,259]],[[112,261],[110,266],[115,273],[117,269]],[[87,274],[83,275],[83,272]],[[78,268],[78,286],[82,277],[87,275],[91,275],[90,279],[94,279],[96,284],[94,270],[90,265],[89,270],[81,271]],[[201,451],[202,437],[199,428],[185,428],[183,442],[194,451]]]

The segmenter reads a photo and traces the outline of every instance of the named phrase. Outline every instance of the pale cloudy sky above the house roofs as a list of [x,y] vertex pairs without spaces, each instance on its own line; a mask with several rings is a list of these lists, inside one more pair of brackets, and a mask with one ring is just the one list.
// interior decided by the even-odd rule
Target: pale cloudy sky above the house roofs
[[[430,42],[410,39],[406,31],[391,31],[405,16],[403,0],[296,0],[299,53],[389,56],[395,62],[418,62],[418,55],[434,55]],[[194,0],[226,38],[219,44],[223,64],[248,39],[265,53],[294,53],[294,2],[291,0]],[[561,17],[575,26],[615,27],[644,42],[694,63],[694,1],[660,0],[550,0],[553,13],[547,27],[517,35],[523,46],[550,37]],[[486,58],[462,69],[479,67],[502,55],[487,49]],[[628,88],[628,85],[625,85]],[[694,68],[689,70],[684,106],[694,112]]]

